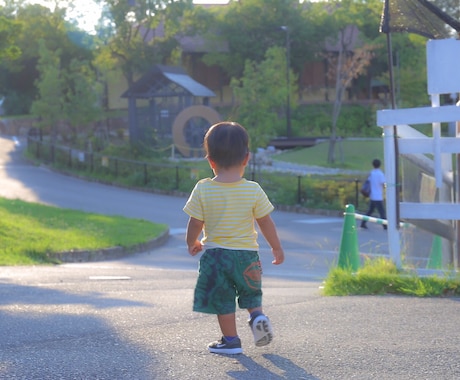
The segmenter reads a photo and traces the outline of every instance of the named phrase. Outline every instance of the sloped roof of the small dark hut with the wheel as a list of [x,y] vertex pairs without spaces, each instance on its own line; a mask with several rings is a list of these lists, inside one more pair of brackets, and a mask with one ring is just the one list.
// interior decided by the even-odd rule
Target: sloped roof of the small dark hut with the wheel
[[192,79],[180,67],[156,65],[121,95],[122,98],[134,97],[136,99],[173,96],[209,98],[216,94]]

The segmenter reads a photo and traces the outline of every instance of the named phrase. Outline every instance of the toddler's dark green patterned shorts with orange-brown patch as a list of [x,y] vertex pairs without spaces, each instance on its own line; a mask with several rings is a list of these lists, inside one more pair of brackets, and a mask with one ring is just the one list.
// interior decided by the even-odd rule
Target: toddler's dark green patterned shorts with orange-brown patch
[[257,251],[206,250],[200,259],[193,310],[231,314],[262,305],[262,267]]

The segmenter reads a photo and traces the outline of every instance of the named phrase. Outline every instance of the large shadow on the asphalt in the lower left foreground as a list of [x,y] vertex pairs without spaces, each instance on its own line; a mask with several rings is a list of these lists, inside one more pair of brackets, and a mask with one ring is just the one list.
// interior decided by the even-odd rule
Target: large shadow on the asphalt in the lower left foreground
[[132,306],[146,305],[1,283],[0,378],[152,379],[160,359],[93,310]]

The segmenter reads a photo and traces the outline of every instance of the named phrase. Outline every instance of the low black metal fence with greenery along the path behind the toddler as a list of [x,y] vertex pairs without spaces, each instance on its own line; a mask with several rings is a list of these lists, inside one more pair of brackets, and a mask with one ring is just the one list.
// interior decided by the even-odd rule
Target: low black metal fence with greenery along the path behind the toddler
[[[35,159],[62,170],[102,182],[164,193],[189,193],[199,179],[213,175],[211,169],[205,165],[129,160],[51,144],[31,137],[28,138],[27,149]],[[360,199],[362,200],[359,178],[271,173],[254,170],[251,165],[246,173],[249,179],[261,184],[270,200],[278,206],[340,211],[348,203],[354,204],[358,209]]]

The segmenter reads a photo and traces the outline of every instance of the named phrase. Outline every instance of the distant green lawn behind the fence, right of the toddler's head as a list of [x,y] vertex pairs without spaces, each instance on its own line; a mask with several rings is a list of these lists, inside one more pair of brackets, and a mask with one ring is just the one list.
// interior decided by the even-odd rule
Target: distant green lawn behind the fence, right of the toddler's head
[[324,141],[311,148],[287,150],[273,156],[274,160],[293,162],[302,165],[313,165],[349,170],[368,171],[372,168],[372,160],[378,158],[383,167],[383,139],[349,139],[336,144],[336,162],[327,162],[329,142]]

